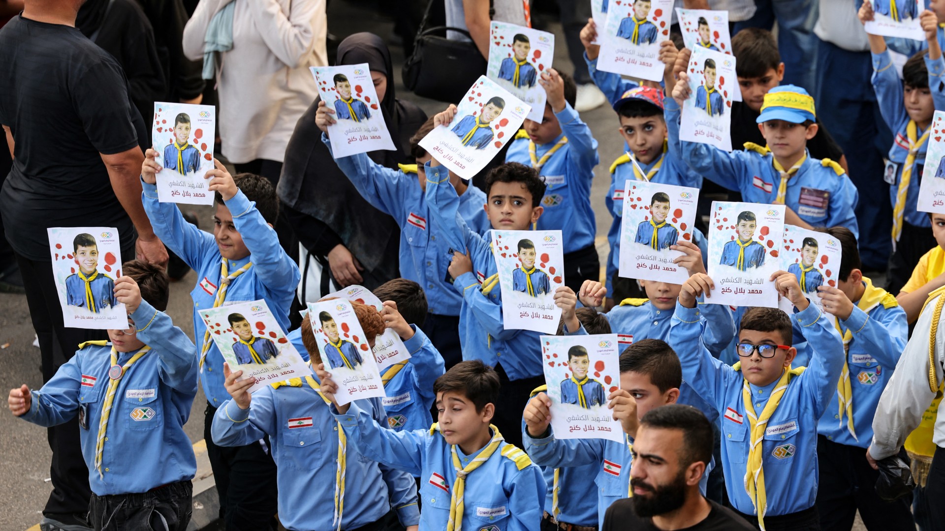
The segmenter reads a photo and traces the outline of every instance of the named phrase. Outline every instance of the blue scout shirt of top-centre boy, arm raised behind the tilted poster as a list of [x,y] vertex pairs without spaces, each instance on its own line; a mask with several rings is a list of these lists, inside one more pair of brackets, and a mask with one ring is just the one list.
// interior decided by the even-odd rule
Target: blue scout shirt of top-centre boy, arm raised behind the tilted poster
[[[591,207],[591,182],[593,167],[597,165],[597,141],[591,128],[581,121],[571,104],[555,113],[561,126],[561,135],[548,144],[535,146],[535,156],[541,161],[550,149],[567,137],[568,143],[560,146],[554,155],[539,170],[547,185],[541,205],[544,213],[536,225],[537,231],[561,231],[564,252],[574,252],[593,246],[597,233]],[[523,163],[532,167],[528,146],[531,140],[516,135],[508,146],[507,163]]]

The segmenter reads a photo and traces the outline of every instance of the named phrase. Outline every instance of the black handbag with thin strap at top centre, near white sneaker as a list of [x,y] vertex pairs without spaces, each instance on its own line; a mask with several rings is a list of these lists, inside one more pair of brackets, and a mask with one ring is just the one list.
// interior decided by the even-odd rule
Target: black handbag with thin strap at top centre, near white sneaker
[[[404,86],[423,97],[458,103],[476,79],[486,74],[488,61],[472,42],[469,31],[450,26],[424,29],[434,2],[443,0],[430,0],[426,6],[414,40],[413,54],[404,62]],[[446,38],[447,30],[465,35],[470,40],[451,41]]]

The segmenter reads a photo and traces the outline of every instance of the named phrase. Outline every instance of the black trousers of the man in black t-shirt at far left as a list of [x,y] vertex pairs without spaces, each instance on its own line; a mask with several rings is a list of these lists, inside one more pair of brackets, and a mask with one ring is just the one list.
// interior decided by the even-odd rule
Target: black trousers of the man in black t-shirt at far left
[[[129,242],[121,252],[122,256],[133,258],[134,242]],[[19,254],[16,261],[23,273],[29,317],[40,342],[45,383],[76,354],[79,343],[108,339],[109,335],[104,330],[64,326],[52,262],[30,260]],[[83,523],[92,497],[89,469],[82,458],[78,429],[76,419],[46,429],[49,448],[53,452],[49,467],[53,491],[43,508],[43,515],[62,523]],[[81,515],[82,520],[77,520],[76,515]]]

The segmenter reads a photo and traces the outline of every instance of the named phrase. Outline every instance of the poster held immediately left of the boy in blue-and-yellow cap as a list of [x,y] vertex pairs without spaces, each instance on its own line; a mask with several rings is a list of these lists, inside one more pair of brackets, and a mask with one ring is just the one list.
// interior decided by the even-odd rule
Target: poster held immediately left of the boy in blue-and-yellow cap
[[735,58],[696,48],[688,75],[693,93],[682,102],[679,139],[731,151],[730,91],[738,84]]

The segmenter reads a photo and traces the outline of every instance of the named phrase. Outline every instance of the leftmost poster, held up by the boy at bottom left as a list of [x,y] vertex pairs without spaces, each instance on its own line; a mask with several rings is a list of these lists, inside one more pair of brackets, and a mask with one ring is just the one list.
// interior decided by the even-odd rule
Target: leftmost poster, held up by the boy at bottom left
[[121,244],[114,227],[46,229],[62,321],[68,328],[125,330],[128,312],[114,300]]

